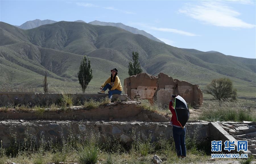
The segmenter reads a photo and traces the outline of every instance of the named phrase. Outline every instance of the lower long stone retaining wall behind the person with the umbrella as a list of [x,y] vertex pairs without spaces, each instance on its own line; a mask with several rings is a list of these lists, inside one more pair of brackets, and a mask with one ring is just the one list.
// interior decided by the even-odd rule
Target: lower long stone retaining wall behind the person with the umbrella
[[[210,137],[208,122],[205,123],[187,123],[186,135],[193,137],[197,134],[197,139],[204,141]],[[152,140],[159,137],[170,139],[172,137],[172,126],[166,123],[145,123],[138,121],[117,122],[117,121],[15,121],[5,120],[0,122],[0,140],[3,141],[4,147],[9,147],[14,139],[13,134],[18,142],[24,141],[31,136],[36,142],[44,136],[45,140],[60,141],[62,137],[73,135],[75,137],[97,133],[101,142],[106,142],[108,137],[120,138],[123,144],[130,145],[133,133],[137,137],[146,139],[151,134]],[[32,135],[29,135],[32,134]]]

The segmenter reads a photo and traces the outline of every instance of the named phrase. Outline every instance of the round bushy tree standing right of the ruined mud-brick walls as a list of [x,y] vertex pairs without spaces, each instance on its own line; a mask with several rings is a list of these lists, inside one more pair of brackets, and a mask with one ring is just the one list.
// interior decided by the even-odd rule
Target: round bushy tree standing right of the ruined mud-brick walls
[[217,100],[236,100],[237,90],[233,88],[233,83],[229,78],[214,79],[206,88],[206,93],[211,94]]

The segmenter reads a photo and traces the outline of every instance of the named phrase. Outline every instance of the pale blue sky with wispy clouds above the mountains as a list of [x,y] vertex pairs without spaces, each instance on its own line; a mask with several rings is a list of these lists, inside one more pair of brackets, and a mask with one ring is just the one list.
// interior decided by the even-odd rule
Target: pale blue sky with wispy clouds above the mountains
[[0,1],[0,19],[121,22],[165,43],[256,58],[255,1]]

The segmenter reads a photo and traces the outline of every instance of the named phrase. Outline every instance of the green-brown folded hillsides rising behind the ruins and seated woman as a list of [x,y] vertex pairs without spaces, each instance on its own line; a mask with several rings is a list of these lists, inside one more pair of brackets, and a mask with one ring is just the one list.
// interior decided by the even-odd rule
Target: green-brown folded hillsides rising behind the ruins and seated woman
[[139,52],[143,72],[163,72],[202,89],[214,78],[228,77],[239,96],[256,97],[256,59],[181,49],[122,28],[84,22],[60,21],[29,30],[0,22],[0,83],[42,87],[47,71],[49,88],[78,92],[77,72],[87,55],[93,69],[87,91],[96,93],[112,68],[123,83],[132,51]]

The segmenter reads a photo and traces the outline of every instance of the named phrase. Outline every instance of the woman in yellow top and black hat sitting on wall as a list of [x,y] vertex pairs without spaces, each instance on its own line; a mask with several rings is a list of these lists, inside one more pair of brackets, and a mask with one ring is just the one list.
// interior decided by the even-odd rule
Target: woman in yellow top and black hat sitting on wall
[[122,86],[121,82],[119,80],[119,77],[117,76],[117,69],[113,68],[111,70],[111,76],[106,80],[100,87],[100,90],[98,94],[104,94],[105,91],[109,89],[108,91],[108,97],[111,99],[113,94],[121,94],[122,93]]

